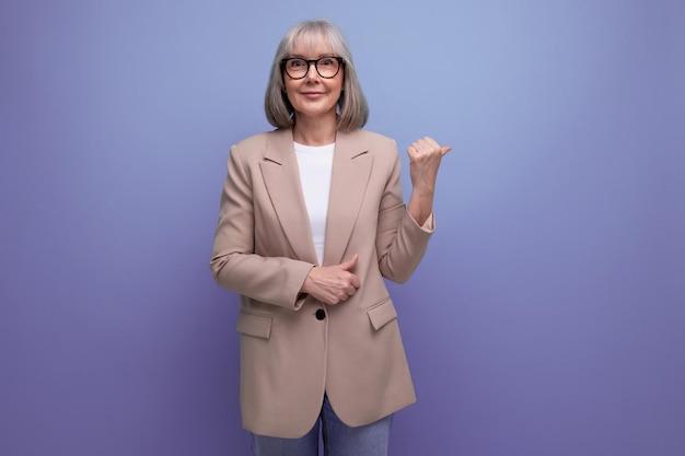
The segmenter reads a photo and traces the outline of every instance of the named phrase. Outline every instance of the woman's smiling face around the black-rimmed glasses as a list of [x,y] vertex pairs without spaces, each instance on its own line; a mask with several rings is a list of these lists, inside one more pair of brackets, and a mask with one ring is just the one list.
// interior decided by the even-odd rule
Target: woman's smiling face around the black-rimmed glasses
[[[302,45],[301,39],[295,42],[292,52],[288,57],[316,60],[330,56],[337,57],[324,38],[306,47]],[[334,78],[322,78],[313,62],[310,65],[306,75],[302,79],[292,79],[288,73],[283,72],[286,94],[295,110],[295,118],[310,117],[321,119],[327,116],[335,118],[338,100],[342,93],[344,72],[345,68],[341,66]]]

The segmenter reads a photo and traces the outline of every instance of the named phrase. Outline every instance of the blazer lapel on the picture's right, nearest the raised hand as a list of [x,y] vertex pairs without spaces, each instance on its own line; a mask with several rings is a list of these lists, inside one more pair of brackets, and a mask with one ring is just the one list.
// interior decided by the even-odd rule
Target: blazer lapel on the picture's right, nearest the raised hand
[[371,176],[373,160],[360,137],[359,132],[336,136],[324,266],[342,261]]

